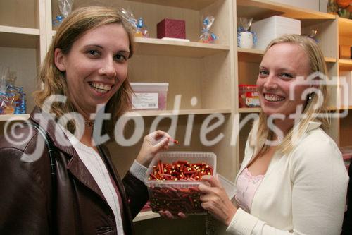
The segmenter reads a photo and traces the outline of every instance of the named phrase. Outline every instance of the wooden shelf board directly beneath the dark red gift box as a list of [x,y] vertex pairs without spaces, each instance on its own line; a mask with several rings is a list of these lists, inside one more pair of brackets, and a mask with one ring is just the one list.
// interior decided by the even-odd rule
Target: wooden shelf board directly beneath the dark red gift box
[[136,54],[143,55],[202,58],[230,50],[229,46],[222,44],[179,42],[156,38],[135,37],[134,42],[136,42]]

